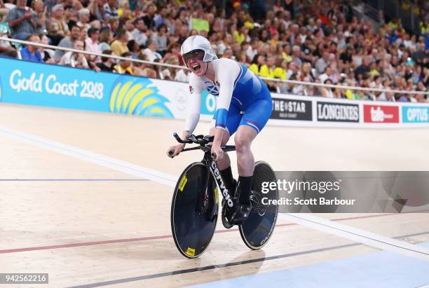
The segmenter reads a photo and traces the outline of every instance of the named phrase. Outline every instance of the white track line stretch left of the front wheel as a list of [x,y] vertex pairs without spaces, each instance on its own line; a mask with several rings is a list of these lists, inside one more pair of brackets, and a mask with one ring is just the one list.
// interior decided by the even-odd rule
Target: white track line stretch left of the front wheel
[[60,142],[55,142],[50,139],[39,137],[25,132],[20,132],[0,126],[0,134],[11,137],[13,139],[21,140],[44,149],[62,153],[67,156],[86,160],[100,166],[108,167],[113,170],[121,171],[126,174],[150,179],[161,184],[174,187],[176,185],[177,177],[156,170],[151,170],[146,167],[135,165],[129,162],[110,158],[99,153],[93,153],[88,150],[80,149],[78,147],[69,146]]

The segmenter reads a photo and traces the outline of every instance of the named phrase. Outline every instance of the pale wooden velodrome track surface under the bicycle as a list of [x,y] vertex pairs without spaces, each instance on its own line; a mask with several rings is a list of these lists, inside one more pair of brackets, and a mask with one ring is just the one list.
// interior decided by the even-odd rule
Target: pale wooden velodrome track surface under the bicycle
[[[236,229],[226,231],[218,221],[207,252],[184,259],[171,237],[172,187],[115,169],[132,163],[177,177],[202,156],[165,156],[175,143],[172,132],[182,126],[177,120],[1,104],[0,273],[49,273],[50,287],[181,287],[379,251],[280,218],[261,251],[247,249]],[[208,128],[201,123],[197,132]],[[267,126],[253,151],[275,170],[429,170],[428,132]],[[71,152],[58,148],[63,144]],[[116,166],[95,163],[79,149]],[[429,242],[428,215],[316,216],[418,245]],[[222,283],[214,287],[229,287]]]

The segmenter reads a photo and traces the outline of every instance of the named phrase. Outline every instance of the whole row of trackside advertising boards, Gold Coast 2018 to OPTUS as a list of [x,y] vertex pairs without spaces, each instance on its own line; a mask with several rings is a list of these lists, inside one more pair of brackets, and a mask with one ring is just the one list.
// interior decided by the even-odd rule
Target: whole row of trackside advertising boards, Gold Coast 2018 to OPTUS
[[[139,116],[186,116],[189,85],[127,74],[0,58],[0,102]],[[429,125],[429,104],[329,99],[273,93],[269,124],[402,128]],[[210,121],[216,97],[203,92],[201,115]]]

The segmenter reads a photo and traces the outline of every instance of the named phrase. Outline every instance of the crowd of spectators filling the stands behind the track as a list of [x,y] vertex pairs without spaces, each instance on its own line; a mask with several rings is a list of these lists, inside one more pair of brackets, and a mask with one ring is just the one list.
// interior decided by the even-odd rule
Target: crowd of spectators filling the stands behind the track
[[[266,78],[428,91],[429,15],[428,7],[418,7],[425,15],[421,33],[409,34],[400,18],[375,30],[353,15],[349,1],[341,0],[282,0],[269,8],[261,0],[0,0],[0,22],[10,29],[9,35],[0,29],[0,36],[183,64],[181,44],[199,34],[210,40],[219,57],[235,59]],[[186,69],[31,45],[17,50],[8,41],[0,41],[0,55],[184,82],[189,78]],[[427,101],[424,95],[266,83],[271,91],[294,95]]]

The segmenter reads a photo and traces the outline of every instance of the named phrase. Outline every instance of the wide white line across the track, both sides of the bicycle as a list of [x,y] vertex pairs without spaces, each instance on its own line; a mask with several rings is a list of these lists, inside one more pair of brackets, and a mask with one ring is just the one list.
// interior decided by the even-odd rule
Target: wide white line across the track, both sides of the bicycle
[[[115,158],[110,158],[99,153],[93,153],[91,151],[62,144],[60,142],[55,142],[50,139],[29,133],[0,126],[0,135],[18,139],[22,142],[33,144],[35,146],[39,146],[50,151],[55,151],[57,153],[62,153],[67,156],[86,160],[90,163],[108,167],[126,174],[142,177],[144,179],[150,179],[168,186],[174,187],[177,181],[177,177],[170,174],[151,170],[146,167],[128,163]],[[320,217],[313,217],[308,214],[279,214],[279,217],[303,226],[308,226],[326,233],[332,233],[343,238],[361,242],[372,247],[392,252],[399,252],[401,254],[414,256],[419,259],[429,260],[429,251],[428,248],[425,247],[418,247],[407,242],[393,240],[382,235],[370,233],[343,224],[334,223],[333,221],[321,219]]]

